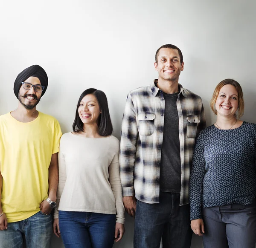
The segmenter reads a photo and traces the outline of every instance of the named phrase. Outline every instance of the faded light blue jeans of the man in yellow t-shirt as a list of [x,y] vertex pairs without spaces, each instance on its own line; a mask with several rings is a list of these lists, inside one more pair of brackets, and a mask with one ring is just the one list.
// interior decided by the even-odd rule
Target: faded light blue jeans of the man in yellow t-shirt
[[52,215],[41,211],[28,219],[8,223],[8,229],[0,231],[0,248],[22,248],[23,236],[27,248],[50,248]]

